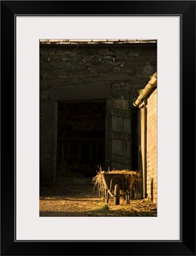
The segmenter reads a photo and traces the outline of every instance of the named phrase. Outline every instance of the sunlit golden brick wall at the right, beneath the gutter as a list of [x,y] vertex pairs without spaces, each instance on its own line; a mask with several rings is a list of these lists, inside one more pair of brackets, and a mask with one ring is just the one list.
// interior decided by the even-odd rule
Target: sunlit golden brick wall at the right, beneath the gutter
[[157,202],[157,88],[147,99],[147,198]]

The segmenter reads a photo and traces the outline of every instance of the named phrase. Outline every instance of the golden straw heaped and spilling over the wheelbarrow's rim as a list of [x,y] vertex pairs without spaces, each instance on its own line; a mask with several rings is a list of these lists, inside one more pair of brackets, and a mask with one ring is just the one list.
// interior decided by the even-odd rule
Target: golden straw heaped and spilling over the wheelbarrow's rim
[[98,166],[99,172],[97,172],[97,175],[93,177],[93,193],[94,190],[97,189],[99,195],[101,194],[102,196],[105,195],[105,186],[103,184],[103,179],[102,179],[102,173],[123,173],[124,174],[124,183],[126,188],[132,189],[133,183],[139,182],[140,179],[140,173],[136,171],[131,171],[131,170],[115,170],[113,169],[112,171],[107,170],[106,172],[102,170],[102,167]]

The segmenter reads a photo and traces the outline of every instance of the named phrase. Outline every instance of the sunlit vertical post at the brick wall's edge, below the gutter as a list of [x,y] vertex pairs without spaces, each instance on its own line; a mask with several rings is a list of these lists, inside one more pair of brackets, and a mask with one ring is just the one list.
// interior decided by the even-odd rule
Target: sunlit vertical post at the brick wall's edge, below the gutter
[[147,197],[147,159],[146,159],[146,127],[147,127],[147,110],[146,107],[140,110],[141,119],[141,154],[142,154],[142,174],[143,174],[143,196]]

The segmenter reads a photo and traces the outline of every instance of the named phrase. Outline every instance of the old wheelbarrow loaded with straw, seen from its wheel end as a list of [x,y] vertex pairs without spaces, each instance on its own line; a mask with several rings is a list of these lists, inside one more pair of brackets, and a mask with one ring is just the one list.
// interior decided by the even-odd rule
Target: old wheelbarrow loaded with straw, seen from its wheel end
[[120,197],[123,197],[128,204],[130,202],[130,186],[126,186],[123,173],[102,173],[102,180],[105,187],[105,204],[109,203],[109,195],[114,197],[114,204],[120,204]]

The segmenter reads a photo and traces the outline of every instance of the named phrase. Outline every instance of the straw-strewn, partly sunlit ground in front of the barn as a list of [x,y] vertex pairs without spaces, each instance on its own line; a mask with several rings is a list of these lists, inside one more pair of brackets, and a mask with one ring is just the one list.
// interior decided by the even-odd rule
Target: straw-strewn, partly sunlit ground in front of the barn
[[156,204],[147,199],[126,200],[120,198],[120,204],[114,204],[114,198],[109,197],[105,204],[104,195],[99,195],[91,179],[59,179],[52,188],[40,188],[40,216],[95,216],[95,217],[126,217],[143,216],[156,217]]

